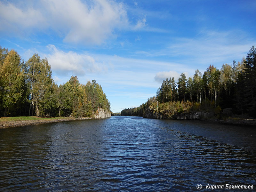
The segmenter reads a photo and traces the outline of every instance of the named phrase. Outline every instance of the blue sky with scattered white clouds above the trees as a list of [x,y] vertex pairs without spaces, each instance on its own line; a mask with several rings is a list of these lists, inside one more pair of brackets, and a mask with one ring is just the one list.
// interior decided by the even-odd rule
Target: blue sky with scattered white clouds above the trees
[[0,0],[0,46],[47,58],[58,85],[96,80],[112,112],[163,80],[241,61],[256,46],[255,0]]

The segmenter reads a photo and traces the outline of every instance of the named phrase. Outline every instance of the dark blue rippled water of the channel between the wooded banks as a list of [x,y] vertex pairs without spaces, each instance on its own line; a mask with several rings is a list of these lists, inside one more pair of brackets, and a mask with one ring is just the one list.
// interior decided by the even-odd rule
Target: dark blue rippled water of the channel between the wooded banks
[[0,129],[0,191],[196,191],[198,183],[253,191],[255,135],[127,116]]

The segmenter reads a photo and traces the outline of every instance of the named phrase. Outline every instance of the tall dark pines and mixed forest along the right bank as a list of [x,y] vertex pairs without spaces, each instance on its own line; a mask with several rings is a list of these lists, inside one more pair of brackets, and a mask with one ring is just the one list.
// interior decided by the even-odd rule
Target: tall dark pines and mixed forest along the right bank
[[170,77],[157,89],[156,96],[137,108],[124,109],[123,116],[143,116],[146,110],[164,111],[172,116],[183,112],[212,111],[221,118],[223,109],[256,117],[256,49],[252,46],[241,62],[210,65],[202,74],[195,71],[187,78],[181,73],[178,82]]

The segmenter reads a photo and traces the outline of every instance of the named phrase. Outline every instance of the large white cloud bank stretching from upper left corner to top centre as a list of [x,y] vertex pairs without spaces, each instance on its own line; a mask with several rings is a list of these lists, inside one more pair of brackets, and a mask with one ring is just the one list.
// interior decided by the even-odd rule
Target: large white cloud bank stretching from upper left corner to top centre
[[[27,7],[23,9],[23,7]],[[37,7],[37,8],[35,8]],[[20,35],[33,29],[49,28],[64,42],[101,44],[116,29],[127,28],[128,18],[122,3],[108,0],[41,0],[29,5],[0,2],[0,31]]]

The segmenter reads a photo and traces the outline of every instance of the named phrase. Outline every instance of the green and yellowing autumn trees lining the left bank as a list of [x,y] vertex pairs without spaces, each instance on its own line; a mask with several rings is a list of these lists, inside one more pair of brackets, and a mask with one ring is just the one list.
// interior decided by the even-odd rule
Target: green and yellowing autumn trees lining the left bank
[[47,58],[34,54],[21,60],[14,51],[0,46],[0,116],[92,116],[110,103],[95,80],[80,84],[71,76],[58,86],[52,79]]

